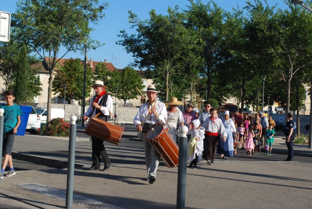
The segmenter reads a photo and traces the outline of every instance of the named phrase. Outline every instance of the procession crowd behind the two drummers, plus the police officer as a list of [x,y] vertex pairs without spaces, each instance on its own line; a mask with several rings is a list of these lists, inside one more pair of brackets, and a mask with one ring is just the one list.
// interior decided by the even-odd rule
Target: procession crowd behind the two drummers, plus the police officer
[[[197,162],[201,160],[206,161],[208,165],[214,165],[216,153],[220,154],[221,158],[228,160],[229,157],[237,154],[237,148],[241,147],[247,151],[247,155],[261,152],[261,147],[265,148],[267,155],[271,155],[275,134],[275,121],[272,116],[266,117],[262,112],[256,113],[254,117],[250,113],[243,116],[238,111],[235,111],[234,114],[225,111],[224,116],[220,116],[218,109],[213,108],[211,103],[205,104],[202,113],[198,109],[194,110],[192,103],[189,103],[185,111],[181,112],[177,105],[183,103],[176,97],[166,104],[169,107],[167,123],[164,125],[168,127],[168,132],[176,143],[179,138],[179,126],[185,125],[189,128],[187,133],[189,168],[197,168]],[[172,112],[178,113],[178,116],[174,117]],[[295,123],[292,121],[292,117],[289,117],[289,120],[291,122],[286,126],[289,126],[289,130],[291,130],[295,127]],[[292,161],[294,134],[287,131],[286,128],[285,135],[290,135],[292,138],[286,141],[289,156],[285,161]]]

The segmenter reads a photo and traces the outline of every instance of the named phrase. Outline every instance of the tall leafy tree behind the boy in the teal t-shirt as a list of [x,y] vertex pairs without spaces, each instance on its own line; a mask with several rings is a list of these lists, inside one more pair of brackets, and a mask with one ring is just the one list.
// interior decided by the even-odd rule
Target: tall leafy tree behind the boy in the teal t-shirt
[[[93,28],[104,17],[107,3],[98,0],[50,1],[20,0],[12,16],[18,38],[25,41],[42,59],[49,72],[47,121],[51,119],[51,98],[57,57],[83,48]],[[60,47],[66,49],[59,56]],[[47,56],[47,58],[46,58]]]

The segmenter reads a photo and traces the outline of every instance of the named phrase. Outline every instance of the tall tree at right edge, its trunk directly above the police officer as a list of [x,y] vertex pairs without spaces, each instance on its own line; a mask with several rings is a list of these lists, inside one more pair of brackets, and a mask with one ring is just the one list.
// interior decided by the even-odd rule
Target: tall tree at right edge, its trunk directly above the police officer
[[287,90],[286,113],[290,111],[293,76],[305,69],[308,69],[311,75],[310,66],[312,64],[311,14],[306,9],[294,6],[289,1],[287,3],[289,9],[277,11],[277,18],[272,28],[276,35],[273,39],[274,44],[269,51],[270,55],[274,57],[274,69],[280,72],[286,84],[284,87]]

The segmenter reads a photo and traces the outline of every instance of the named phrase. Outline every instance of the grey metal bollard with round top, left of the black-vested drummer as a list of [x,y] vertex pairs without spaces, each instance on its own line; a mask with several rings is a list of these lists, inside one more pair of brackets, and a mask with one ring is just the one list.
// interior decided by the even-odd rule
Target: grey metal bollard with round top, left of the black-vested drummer
[[76,149],[76,125],[77,116],[70,117],[70,135],[69,135],[69,150],[67,163],[67,187],[66,187],[66,209],[73,207],[74,193],[74,171],[75,171],[75,149]]

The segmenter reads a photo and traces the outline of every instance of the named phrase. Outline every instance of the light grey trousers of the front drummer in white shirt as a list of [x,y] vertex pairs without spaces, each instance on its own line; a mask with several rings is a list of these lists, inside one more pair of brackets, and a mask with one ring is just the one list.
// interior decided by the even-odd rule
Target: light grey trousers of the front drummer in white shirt
[[147,168],[148,177],[155,176],[158,168],[160,158],[155,151],[154,147],[145,139],[145,133],[142,133],[140,139],[143,141],[145,151],[145,163]]

